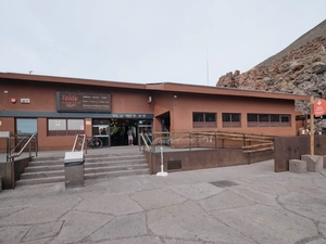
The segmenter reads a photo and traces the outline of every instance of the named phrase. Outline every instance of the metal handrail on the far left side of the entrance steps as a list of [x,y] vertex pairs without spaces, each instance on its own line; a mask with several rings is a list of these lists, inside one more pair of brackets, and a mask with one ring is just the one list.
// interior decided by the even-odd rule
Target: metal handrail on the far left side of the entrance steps
[[[14,136],[16,138],[21,137],[21,136]],[[20,157],[23,152],[25,151],[25,149],[28,147],[28,152],[29,152],[29,157],[32,157],[32,140],[36,139],[36,143],[35,143],[35,156],[37,156],[38,153],[38,140],[37,140],[37,134],[24,134],[23,138],[20,140],[20,142],[15,145],[15,147],[13,150],[10,151],[10,142],[9,142],[9,146],[7,149],[8,152],[8,156],[7,158],[10,160],[11,163],[11,180],[12,180],[12,189],[15,189],[15,158]],[[27,140],[25,143],[24,141]],[[22,149],[18,153],[14,154],[13,153],[22,145]]]

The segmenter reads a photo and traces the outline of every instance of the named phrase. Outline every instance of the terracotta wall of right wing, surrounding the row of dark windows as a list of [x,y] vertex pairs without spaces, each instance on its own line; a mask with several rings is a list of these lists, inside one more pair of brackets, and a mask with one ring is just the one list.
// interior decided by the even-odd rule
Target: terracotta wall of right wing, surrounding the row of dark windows
[[[275,136],[296,134],[294,102],[287,100],[265,100],[251,98],[214,97],[214,95],[189,95],[186,93],[175,94],[172,101],[167,101],[171,114],[171,130],[221,130],[239,131],[248,133],[264,133]],[[166,101],[166,100],[165,100]],[[162,98],[162,103],[164,99]],[[167,107],[167,106],[166,106]],[[161,108],[161,107],[160,107]],[[193,128],[192,113],[216,113],[216,128]],[[240,113],[241,128],[223,128],[222,113]],[[290,114],[291,127],[248,127],[247,113],[256,114]],[[156,106],[155,106],[156,114]]]

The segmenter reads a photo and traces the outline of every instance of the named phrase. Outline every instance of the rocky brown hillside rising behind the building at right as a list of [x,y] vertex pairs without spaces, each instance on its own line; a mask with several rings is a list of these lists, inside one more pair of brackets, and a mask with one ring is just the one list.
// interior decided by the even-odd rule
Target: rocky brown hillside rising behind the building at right
[[[308,94],[326,100],[326,20],[250,70],[222,76],[216,87]],[[309,103],[297,101],[296,108],[310,113]],[[325,123],[321,120],[316,127],[325,130]]]

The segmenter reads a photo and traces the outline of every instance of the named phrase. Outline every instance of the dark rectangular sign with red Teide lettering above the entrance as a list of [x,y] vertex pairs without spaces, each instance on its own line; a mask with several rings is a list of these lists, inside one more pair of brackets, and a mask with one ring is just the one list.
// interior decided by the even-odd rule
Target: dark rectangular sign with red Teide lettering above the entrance
[[57,111],[111,113],[111,94],[58,91]]

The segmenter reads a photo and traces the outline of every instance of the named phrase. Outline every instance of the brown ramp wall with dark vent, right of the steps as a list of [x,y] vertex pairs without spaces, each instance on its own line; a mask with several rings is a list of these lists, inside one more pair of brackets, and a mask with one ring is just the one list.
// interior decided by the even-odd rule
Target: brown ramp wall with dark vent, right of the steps
[[[150,172],[159,172],[161,170],[161,152],[145,152],[145,154],[149,160]],[[171,172],[246,165],[273,157],[273,151],[256,153],[243,153],[242,150],[235,149],[170,151],[163,153],[163,165],[164,171]]]

